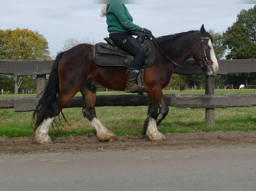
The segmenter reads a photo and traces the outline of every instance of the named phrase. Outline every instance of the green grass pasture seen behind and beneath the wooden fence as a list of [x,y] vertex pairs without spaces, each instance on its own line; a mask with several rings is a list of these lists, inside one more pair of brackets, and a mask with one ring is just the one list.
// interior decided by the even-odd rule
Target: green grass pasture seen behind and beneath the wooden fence
[[[205,90],[187,90],[186,92],[163,91],[164,94],[205,94]],[[255,89],[245,90],[215,90],[215,94],[237,95],[255,94]],[[98,92],[97,95],[121,95],[124,92]],[[80,96],[81,94],[77,94]],[[18,95],[36,96],[36,95]],[[17,95],[1,95],[4,97],[17,97]],[[31,112],[14,112],[14,109],[0,109],[0,136],[20,137],[32,136],[30,127]],[[63,113],[70,125],[60,119],[62,125],[54,125],[50,128],[50,136],[78,136],[96,134],[91,123],[84,118],[82,106],[79,108],[65,108]],[[116,106],[96,107],[96,113],[101,122],[117,135],[141,135],[142,126],[147,115],[147,106]],[[215,108],[215,127],[209,127],[205,123],[205,108],[176,108],[170,107],[166,118],[158,129],[161,133],[181,133],[194,131],[229,131],[229,130],[255,130],[256,107]]]

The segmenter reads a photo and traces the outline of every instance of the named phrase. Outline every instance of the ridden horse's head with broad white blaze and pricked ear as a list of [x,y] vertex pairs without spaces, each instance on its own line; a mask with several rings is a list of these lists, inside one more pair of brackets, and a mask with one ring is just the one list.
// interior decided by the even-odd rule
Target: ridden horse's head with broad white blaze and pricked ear
[[203,66],[207,76],[215,76],[219,66],[213,49],[213,38],[206,32],[204,25],[200,29],[200,45],[193,56],[199,66]]

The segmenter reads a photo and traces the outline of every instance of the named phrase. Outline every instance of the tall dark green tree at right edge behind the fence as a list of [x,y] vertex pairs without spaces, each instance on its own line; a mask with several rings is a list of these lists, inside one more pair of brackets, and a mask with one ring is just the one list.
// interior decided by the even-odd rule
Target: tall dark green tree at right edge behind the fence
[[[223,44],[229,53],[226,59],[255,59],[256,58],[256,5],[248,11],[242,9],[237,20],[224,33]],[[232,74],[238,80],[249,85],[255,81],[255,73]],[[231,76],[232,76],[231,75]]]

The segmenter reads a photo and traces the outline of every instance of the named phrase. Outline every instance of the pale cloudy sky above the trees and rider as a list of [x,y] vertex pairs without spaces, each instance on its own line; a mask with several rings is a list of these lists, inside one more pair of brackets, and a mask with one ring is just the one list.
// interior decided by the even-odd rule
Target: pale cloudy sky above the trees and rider
[[[29,29],[42,34],[51,56],[65,41],[77,39],[105,42],[104,3],[113,0],[9,0],[1,2],[0,29]],[[242,9],[253,8],[256,0],[117,0],[125,3],[133,23],[152,31],[155,37],[200,30],[224,32],[236,22]],[[98,3],[98,4],[97,4]]]

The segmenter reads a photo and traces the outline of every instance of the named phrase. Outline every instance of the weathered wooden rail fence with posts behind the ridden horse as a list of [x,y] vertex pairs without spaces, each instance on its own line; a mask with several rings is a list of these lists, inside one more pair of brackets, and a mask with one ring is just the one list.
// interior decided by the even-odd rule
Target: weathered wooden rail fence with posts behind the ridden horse
[[[194,60],[187,60],[182,66],[193,68]],[[218,60],[218,75],[229,73],[256,72],[256,59],[244,60]],[[0,108],[14,108],[15,112],[32,111],[39,101],[38,95],[46,85],[46,74],[50,73],[53,61],[9,61],[0,60],[0,73],[13,74],[15,76],[36,75],[37,97],[26,98],[0,98]],[[187,70],[176,68],[176,74],[198,74],[202,75],[203,70]],[[164,95],[166,103],[174,107],[206,108],[206,124],[215,126],[215,108],[227,107],[251,107],[256,106],[256,95],[214,95],[214,77],[206,76],[205,95]],[[143,106],[147,105],[147,95],[97,95],[96,106]],[[73,97],[67,107],[82,107],[82,96]]]

